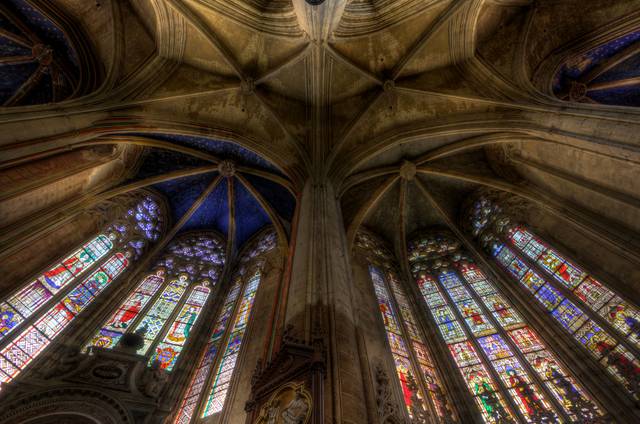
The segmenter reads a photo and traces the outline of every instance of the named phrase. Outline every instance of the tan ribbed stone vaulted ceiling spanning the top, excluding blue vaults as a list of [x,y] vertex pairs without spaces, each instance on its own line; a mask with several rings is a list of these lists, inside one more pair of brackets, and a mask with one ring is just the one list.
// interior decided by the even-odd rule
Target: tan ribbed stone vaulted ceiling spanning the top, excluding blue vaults
[[[640,231],[640,186],[629,178],[640,146],[628,136],[640,113],[564,101],[575,99],[561,86],[567,64],[640,28],[635,0],[55,5],[88,37],[100,84],[53,108],[0,110],[12,164],[127,137],[176,151],[175,137],[200,137],[253,152],[293,192],[309,178],[333,184],[352,236],[361,224],[393,240],[455,222],[461,199],[487,186],[576,222],[605,219],[618,248]],[[624,61],[637,59],[635,38],[629,46],[598,57],[633,68]],[[637,75],[616,78],[633,85]],[[626,99],[617,104],[637,106]],[[181,161],[165,162],[171,173]]]

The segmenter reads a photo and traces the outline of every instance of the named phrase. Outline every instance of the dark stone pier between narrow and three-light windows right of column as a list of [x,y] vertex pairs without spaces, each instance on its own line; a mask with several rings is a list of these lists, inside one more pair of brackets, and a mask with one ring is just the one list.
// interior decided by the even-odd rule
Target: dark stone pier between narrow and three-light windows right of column
[[[408,268],[404,271],[404,274],[408,276],[405,277],[406,281],[414,281]],[[415,311],[418,311],[415,314],[416,326],[419,328],[422,337],[424,340],[435,341],[435,343],[429,345],[429,348],[433,354],[434,368],[440,377],[441,384],[445,386],[443,395],[450,398],[447,399],[448,406],[454,409],[454,413],[457,413],[462,423],[484,423],[484,419],[478,412],[475,402],[469,396],[466,382],[460,375],[458,367],[453,363],[446,343],[440,341],[440,334],[435,327],[431,312],[422,299],[422,294],[415,287],[415,284],[408,284],[405,287],[408,291],[407,297],[410,298],[411,306]],[[446,375],[446,378],[442,378],[444,375]]]

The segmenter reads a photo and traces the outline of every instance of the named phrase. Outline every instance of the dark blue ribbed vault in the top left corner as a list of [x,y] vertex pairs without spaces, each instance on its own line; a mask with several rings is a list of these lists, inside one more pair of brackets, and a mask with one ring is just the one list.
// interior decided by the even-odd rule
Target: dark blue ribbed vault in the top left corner
[[0,106],[55,103],[95,88],[86,36],[52,5],[4,0],[0,18]]

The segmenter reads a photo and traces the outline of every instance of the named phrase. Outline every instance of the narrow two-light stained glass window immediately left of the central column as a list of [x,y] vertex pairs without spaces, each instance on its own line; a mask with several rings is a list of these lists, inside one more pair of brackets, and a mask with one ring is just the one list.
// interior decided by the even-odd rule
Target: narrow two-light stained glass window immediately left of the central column
[[198,413],[204,418],[223,410],[262,278],[263,255],[275,248],[276,243],[276,233],[269,229],[260,234],[241,256],[232,279],[233,284],[222,304],[174,423],[189,423]]

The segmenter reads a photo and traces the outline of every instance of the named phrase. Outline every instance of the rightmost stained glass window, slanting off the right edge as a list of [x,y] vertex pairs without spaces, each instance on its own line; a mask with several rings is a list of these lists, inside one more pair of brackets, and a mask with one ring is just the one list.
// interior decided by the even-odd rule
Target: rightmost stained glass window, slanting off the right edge
[[513,224],[488,197],[478,198],[465,219],[523,292],[638,398],[638,309],[528,228]]

